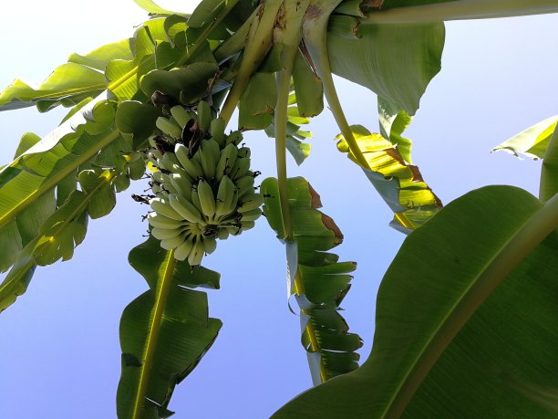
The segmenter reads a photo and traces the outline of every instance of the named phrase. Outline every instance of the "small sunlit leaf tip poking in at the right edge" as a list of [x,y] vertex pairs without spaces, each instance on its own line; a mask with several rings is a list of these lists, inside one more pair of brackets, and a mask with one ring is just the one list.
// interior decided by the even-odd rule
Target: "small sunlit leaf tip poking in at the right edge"
[[492,149],[492,152],[503,150],[516,157],[520,153],[532,159],[544,158],[544,152],[558,125],[558,115],[533,125],[525,131],[511,137]]

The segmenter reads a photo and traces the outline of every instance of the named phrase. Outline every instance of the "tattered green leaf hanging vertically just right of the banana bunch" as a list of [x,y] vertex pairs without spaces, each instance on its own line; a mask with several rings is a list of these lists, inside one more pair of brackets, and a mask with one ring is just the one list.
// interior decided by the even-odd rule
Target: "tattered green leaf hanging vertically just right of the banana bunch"
[[338,312],[356,263],[338,262],[339,257],[328,252],[343,241],[343,235],[329,216],[316,209],[322,204],[312,186],[302,177],[288,179],[287,185],[293,239],[285,238],[274,178],[261,185],[263,213],[277,236],[285,240],[287,292],[300,307],[302,343],[312,380],[318,384],[358,367],[356,350],[362,340],[348,332]]

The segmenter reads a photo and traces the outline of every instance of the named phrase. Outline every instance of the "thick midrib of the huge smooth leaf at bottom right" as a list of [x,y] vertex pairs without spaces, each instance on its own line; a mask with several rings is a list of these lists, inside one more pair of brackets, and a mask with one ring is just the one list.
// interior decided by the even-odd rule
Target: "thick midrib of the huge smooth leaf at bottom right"
[[429,344],[413,362],[413,368],[408,372],[386,410],[378,417],[398,418],[404,412],[430,369],[474,312],[491,296],[511,270],[557,227],[558,194],[555,194],[514,236],[511,236],[507,243],[503,244],[501,251],[491,259],[476,281],[464,292],[446,321],[440,325]]

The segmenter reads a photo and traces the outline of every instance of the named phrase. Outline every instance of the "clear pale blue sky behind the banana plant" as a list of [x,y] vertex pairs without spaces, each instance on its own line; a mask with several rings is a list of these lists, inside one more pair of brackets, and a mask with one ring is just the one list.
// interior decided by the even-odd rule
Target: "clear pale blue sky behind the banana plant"
[[[197,2],[160,5],[180,9],[182,3]],[[71,52],[129,37],[145,18],[131,0],[7,2],[0,88],[16,77],[41,81]],[[413,161],[444,203],[486,184],[537,193],[540,162],[490,150],[558,113],[557,26],[556,15],[447,25],[442,71],[406,132],[414,141]],[[338,88],[350,122],[377,131],[374,94],[343,80]],[[38,114],[33,108],[1,112],[0,163],[11,160],[24,132],[45,135],[63,115],[64,110]],[[365,340],[364,361],[377,287],[404,236],[387,226],[387,206],[336,151],[338,130],[328,111],[310,127],[314,151],[301,167],[291,160],[289,175],[304,175],[322,195],[323,211],[345,234],[336,253],[358,262],[342,306],[351,330]],[[253,168],[273,176],[273,142],[261,133],[247,139]],[[0,314],[0,417],[115,417],[119,318],[147,288],[127,262],[147,228],[140,222],[145,207],[129,197],[142,189],[136,185],[119,194],[111,215],[89,223],[75,257],[38,268],[26,295]],[[204,264],[222,273],[222,289],[210,291],[209,300],[210,315],[224,326],[212,350],[177,387],[170,408],[177,418],[267,417],[311,385],[299,321],[285,299],[284,249],[261,219],[253,230],[220,242]]]

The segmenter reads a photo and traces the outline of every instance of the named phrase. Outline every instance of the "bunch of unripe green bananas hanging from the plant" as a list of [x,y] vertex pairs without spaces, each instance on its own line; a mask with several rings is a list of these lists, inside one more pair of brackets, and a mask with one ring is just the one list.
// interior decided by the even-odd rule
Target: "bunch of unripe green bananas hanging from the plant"
[[150,137],[147,152],[158,169],[150,181],[150,233],[176,259],[197,266],[217,239],[241,234],[262,215],[263,196],[253,187],[259,173],[250,170],[250,149],[239,146],[242,133],[226,135],[205,101],[197,113],[173,106],[156,125],[161,134]]

